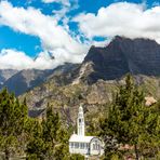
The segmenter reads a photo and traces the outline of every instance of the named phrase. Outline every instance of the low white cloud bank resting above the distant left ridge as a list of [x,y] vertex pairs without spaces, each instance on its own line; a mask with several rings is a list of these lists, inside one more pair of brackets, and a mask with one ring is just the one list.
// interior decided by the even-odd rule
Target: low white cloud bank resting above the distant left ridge
[[58,64],[52,59],[46,52],[41,52],[36,59],[32,59],[24,52],[16,50],[2,50],[0,52],[0,69],[50,69]]

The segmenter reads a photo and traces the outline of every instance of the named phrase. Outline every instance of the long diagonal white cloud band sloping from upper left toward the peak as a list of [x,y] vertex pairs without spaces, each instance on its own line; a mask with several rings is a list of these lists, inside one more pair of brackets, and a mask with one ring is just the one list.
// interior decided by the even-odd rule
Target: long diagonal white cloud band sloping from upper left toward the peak
[[[57,56],[58,53],[54,55],[55,64],[59,62],[61,65],[66,59],[80,63],[86,51],[86,46],[71,37],[63,26],[59,26],[54,16],[44,15],[34,8],[14,8],[10,2],[1,1],[0,25],[39,37],[44,51],[53,54],[61,51],[61,57]],[[62,51],[64,54],[62,54]]]

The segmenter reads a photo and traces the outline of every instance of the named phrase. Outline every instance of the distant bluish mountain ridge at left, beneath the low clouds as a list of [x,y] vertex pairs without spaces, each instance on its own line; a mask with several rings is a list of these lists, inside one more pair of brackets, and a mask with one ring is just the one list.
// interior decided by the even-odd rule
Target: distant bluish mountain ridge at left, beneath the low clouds
[[[34,89],[45,82],[48,79],[54,77],[55,82],[58,84],[69,82],[69,75],[72,68],[77,64],[66,63],[51,70],[38,70],[38,69],[26,69],[21,71],[15,70],[1,70],[0,77],[2,77],[2,84],[0,88],[6,86],[10,92],[14,92],[16,96],[24,94],[25,92]],[[11,71],[11,72],[10,72]],[[66,78],[61,80],[61,75]],[[71,77],[71,76],[70,76]]]

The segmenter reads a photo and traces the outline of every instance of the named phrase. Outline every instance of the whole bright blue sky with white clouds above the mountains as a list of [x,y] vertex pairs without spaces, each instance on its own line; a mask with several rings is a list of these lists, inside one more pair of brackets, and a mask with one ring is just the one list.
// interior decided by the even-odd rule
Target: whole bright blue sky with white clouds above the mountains
[[[158,0],[2,0],[0,68],[80,63],[92,44],[105,45],[116,35],[159,41],[159,30],[155,32],[159,11]],[[9,58],[16,55],[12,64]],[[21,58],[27,63],[19,63]]]

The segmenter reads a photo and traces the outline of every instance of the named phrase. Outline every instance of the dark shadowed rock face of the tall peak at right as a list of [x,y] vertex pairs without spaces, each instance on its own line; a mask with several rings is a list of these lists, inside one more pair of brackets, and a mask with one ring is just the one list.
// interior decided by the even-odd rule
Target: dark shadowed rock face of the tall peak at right
[[119,79],[128,72],[160,76],[160,44],[149,39],[117,36],[106,48],[92,46],[81,67],[89,63],[92,69],[84,71],[89,83]]

